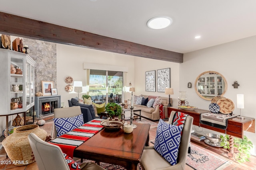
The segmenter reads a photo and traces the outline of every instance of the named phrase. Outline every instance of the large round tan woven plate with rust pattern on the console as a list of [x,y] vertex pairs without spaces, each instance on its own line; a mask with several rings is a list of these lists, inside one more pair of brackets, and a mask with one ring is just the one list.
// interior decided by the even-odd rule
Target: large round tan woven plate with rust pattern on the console
[[232,113],[235,109],[234,102],[228,98],[221,98],[216,102],[216,104],[220,106],[220,112],[223,114]]

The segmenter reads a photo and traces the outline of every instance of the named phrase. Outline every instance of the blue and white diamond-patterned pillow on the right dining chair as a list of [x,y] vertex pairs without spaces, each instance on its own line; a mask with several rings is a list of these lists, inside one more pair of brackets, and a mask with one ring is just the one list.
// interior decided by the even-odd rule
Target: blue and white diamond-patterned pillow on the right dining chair
[[170,125],[159,119],[154,149],[171,165],[177,164],[181,131],[181,126]]

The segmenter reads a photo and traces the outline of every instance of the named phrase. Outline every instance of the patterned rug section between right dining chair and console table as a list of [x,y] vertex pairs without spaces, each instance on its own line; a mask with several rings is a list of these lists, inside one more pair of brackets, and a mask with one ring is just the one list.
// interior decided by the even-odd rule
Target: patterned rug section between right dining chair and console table
[[191,153],[186,158],[186,164],[195,170],[221,170],[229,164],[229,161],[191,145]]

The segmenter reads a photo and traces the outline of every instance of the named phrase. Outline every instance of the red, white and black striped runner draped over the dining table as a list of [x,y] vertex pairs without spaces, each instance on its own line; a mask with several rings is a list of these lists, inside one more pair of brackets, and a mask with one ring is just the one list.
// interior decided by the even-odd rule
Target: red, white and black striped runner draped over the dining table
[[93,119],[84,125],[53,139],[49,143],[59,146],[62,152],[73,158],[73,152],[76,147],[80,146],[103,129],[103,126],[100,125],[102,120],[104,119]]

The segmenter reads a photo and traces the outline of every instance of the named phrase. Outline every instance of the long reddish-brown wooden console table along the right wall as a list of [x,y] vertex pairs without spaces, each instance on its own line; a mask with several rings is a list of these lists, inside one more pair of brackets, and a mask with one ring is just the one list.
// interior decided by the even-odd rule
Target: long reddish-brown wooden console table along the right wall
[[[170,117],[171,111],[180,111],[182,113],[186,113],[192,117],[194,117],[193,125],[199,126],[200,123],[200,113],[206,113],[210,112],[209,110],[203,110],[203,109],[195,109],[192,111],[188,110],[182,110],[178,109],[178,107],[167,107],[168,110],[168,117]],[[249,125],[251,125],[250,128]],[[245,117],[245,119],[238,119],[238,118],[232,118],[228,119],[228,127],[226,131],[224,129],[219,129],[216,127],[208,126],[208,125],[203,125],[200,124],[200,127],[204,127],[206,129],[210,129],[213,131],[217,131],[220,133],[224,133],[227,135],[232,135],[234,137],[242,138],[244,137],[244,131],[248,128],[248,132],[255,133],[255,119],[252,117]]]

